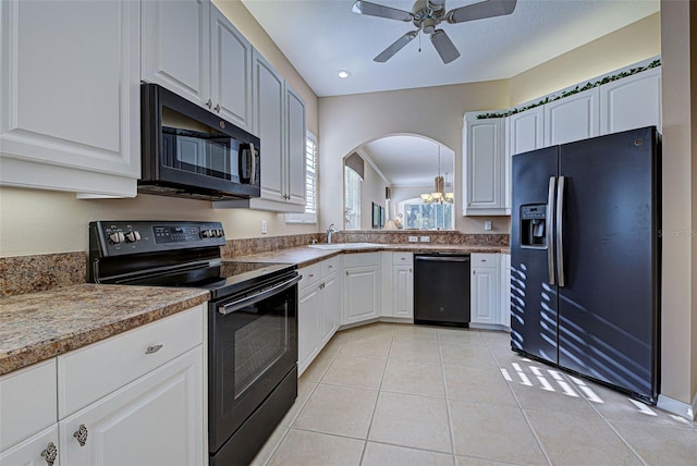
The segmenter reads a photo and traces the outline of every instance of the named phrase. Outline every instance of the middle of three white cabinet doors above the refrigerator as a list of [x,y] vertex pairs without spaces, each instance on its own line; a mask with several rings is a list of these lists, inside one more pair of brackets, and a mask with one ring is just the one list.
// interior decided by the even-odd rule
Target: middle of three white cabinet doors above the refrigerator
[[600,89],[584,90],[545,105],[545,146],[600,134]]

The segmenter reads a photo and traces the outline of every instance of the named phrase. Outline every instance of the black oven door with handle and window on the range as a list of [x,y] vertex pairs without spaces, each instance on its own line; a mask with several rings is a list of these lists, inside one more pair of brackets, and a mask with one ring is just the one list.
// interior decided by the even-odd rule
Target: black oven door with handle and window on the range
[[297,364],[297,272],[212,302],[208,320],[209,449],[216,453]]

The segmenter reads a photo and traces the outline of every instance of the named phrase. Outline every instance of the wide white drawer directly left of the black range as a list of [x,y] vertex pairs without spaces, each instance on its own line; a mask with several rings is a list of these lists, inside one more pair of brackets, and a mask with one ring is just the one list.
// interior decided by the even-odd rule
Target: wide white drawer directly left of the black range
[[59,419],[201,344],[205,310],[201,304],[59,356]]

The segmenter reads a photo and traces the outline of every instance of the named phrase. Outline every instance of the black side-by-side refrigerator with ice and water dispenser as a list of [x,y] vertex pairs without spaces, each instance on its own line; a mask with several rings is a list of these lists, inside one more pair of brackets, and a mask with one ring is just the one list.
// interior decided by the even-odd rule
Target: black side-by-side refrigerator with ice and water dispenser
[[513,156],[511,346],[655,404],[656,127]]

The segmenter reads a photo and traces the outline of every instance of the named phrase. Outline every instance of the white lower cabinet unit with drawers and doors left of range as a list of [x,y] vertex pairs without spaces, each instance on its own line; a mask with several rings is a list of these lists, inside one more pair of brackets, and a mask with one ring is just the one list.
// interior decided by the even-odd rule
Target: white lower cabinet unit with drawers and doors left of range
[[0,465],[207,464],[206,309],[0,377]]

